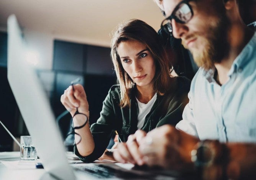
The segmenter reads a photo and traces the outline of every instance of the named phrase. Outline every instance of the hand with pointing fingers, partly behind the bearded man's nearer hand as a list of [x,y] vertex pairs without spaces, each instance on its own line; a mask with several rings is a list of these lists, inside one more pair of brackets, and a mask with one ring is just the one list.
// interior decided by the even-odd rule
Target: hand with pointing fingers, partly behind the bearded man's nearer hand
[[113,156],[116,161],[132,164],[143,165],[142,154],[139,152],[138,142],[146,136],[146,132],[138,130],[135,134],[131,134],[128,137],[127,142],[119,143],[117,146],[117,151],[113,152]]

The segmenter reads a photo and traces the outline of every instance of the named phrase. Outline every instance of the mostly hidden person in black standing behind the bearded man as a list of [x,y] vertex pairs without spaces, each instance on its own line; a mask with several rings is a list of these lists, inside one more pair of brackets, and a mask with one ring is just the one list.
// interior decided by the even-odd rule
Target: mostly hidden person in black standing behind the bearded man
[[[160,8],[162,15],[166,16],[161,0],[154,0]],[[256,31],[256,0],[239,0],[239,10],[243,21],[248,27]],[[172,34],[159,29],[158,34],[166,48],[169,62],[172,64],[172,75],[185,76],[193,79],[199,67],[195,64],[192,54],[181,44],[181,39],[176,39]]]

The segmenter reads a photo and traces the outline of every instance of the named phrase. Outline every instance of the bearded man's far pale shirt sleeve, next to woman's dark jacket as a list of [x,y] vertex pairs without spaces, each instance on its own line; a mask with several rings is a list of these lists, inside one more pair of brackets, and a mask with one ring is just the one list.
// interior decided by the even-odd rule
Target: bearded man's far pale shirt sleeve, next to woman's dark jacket
[[195,127],[194,115],[193,115],[193,104],[192,104],[192,95],[191,90],[188,94],[189,103],[185,106],[182,120],[179,121],[176,125],[176,129],[184,131],[192,136],[199,137],[197,134],[197,129]]

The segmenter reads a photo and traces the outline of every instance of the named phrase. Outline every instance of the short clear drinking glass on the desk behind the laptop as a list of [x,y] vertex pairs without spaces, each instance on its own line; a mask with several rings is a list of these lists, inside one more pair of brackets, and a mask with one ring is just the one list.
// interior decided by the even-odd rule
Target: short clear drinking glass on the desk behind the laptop
[[31,136],[20,136],[20,160],[36,160],[36,147]]

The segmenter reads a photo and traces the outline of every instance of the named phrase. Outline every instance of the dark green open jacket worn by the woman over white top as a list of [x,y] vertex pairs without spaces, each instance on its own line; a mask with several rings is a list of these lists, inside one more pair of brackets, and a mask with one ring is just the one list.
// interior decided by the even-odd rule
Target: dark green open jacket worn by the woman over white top
[[[182,120],[182,112],[188,103],[187,94],[190,88],[190,80],[185,77],[170,78],[170,88],[164,95],[157,95],[151,111],[145,118],[142,130],[148,132],[164,124],[176,125]],[[90,130],[94,138],[95,148],[92,154],[82,157],[74,147],[75,154],[84,162],[93,162],[98,159],[108,146],[108,143],[117,130],[122,141],[127,141],[130,134],[134,134],[137,128],[138,105],[135,98],[136,88],[131,90],[131,108],[120,108],[119,85],[110,88],[103,102],[100,118],[97,123],[91,125]]]

